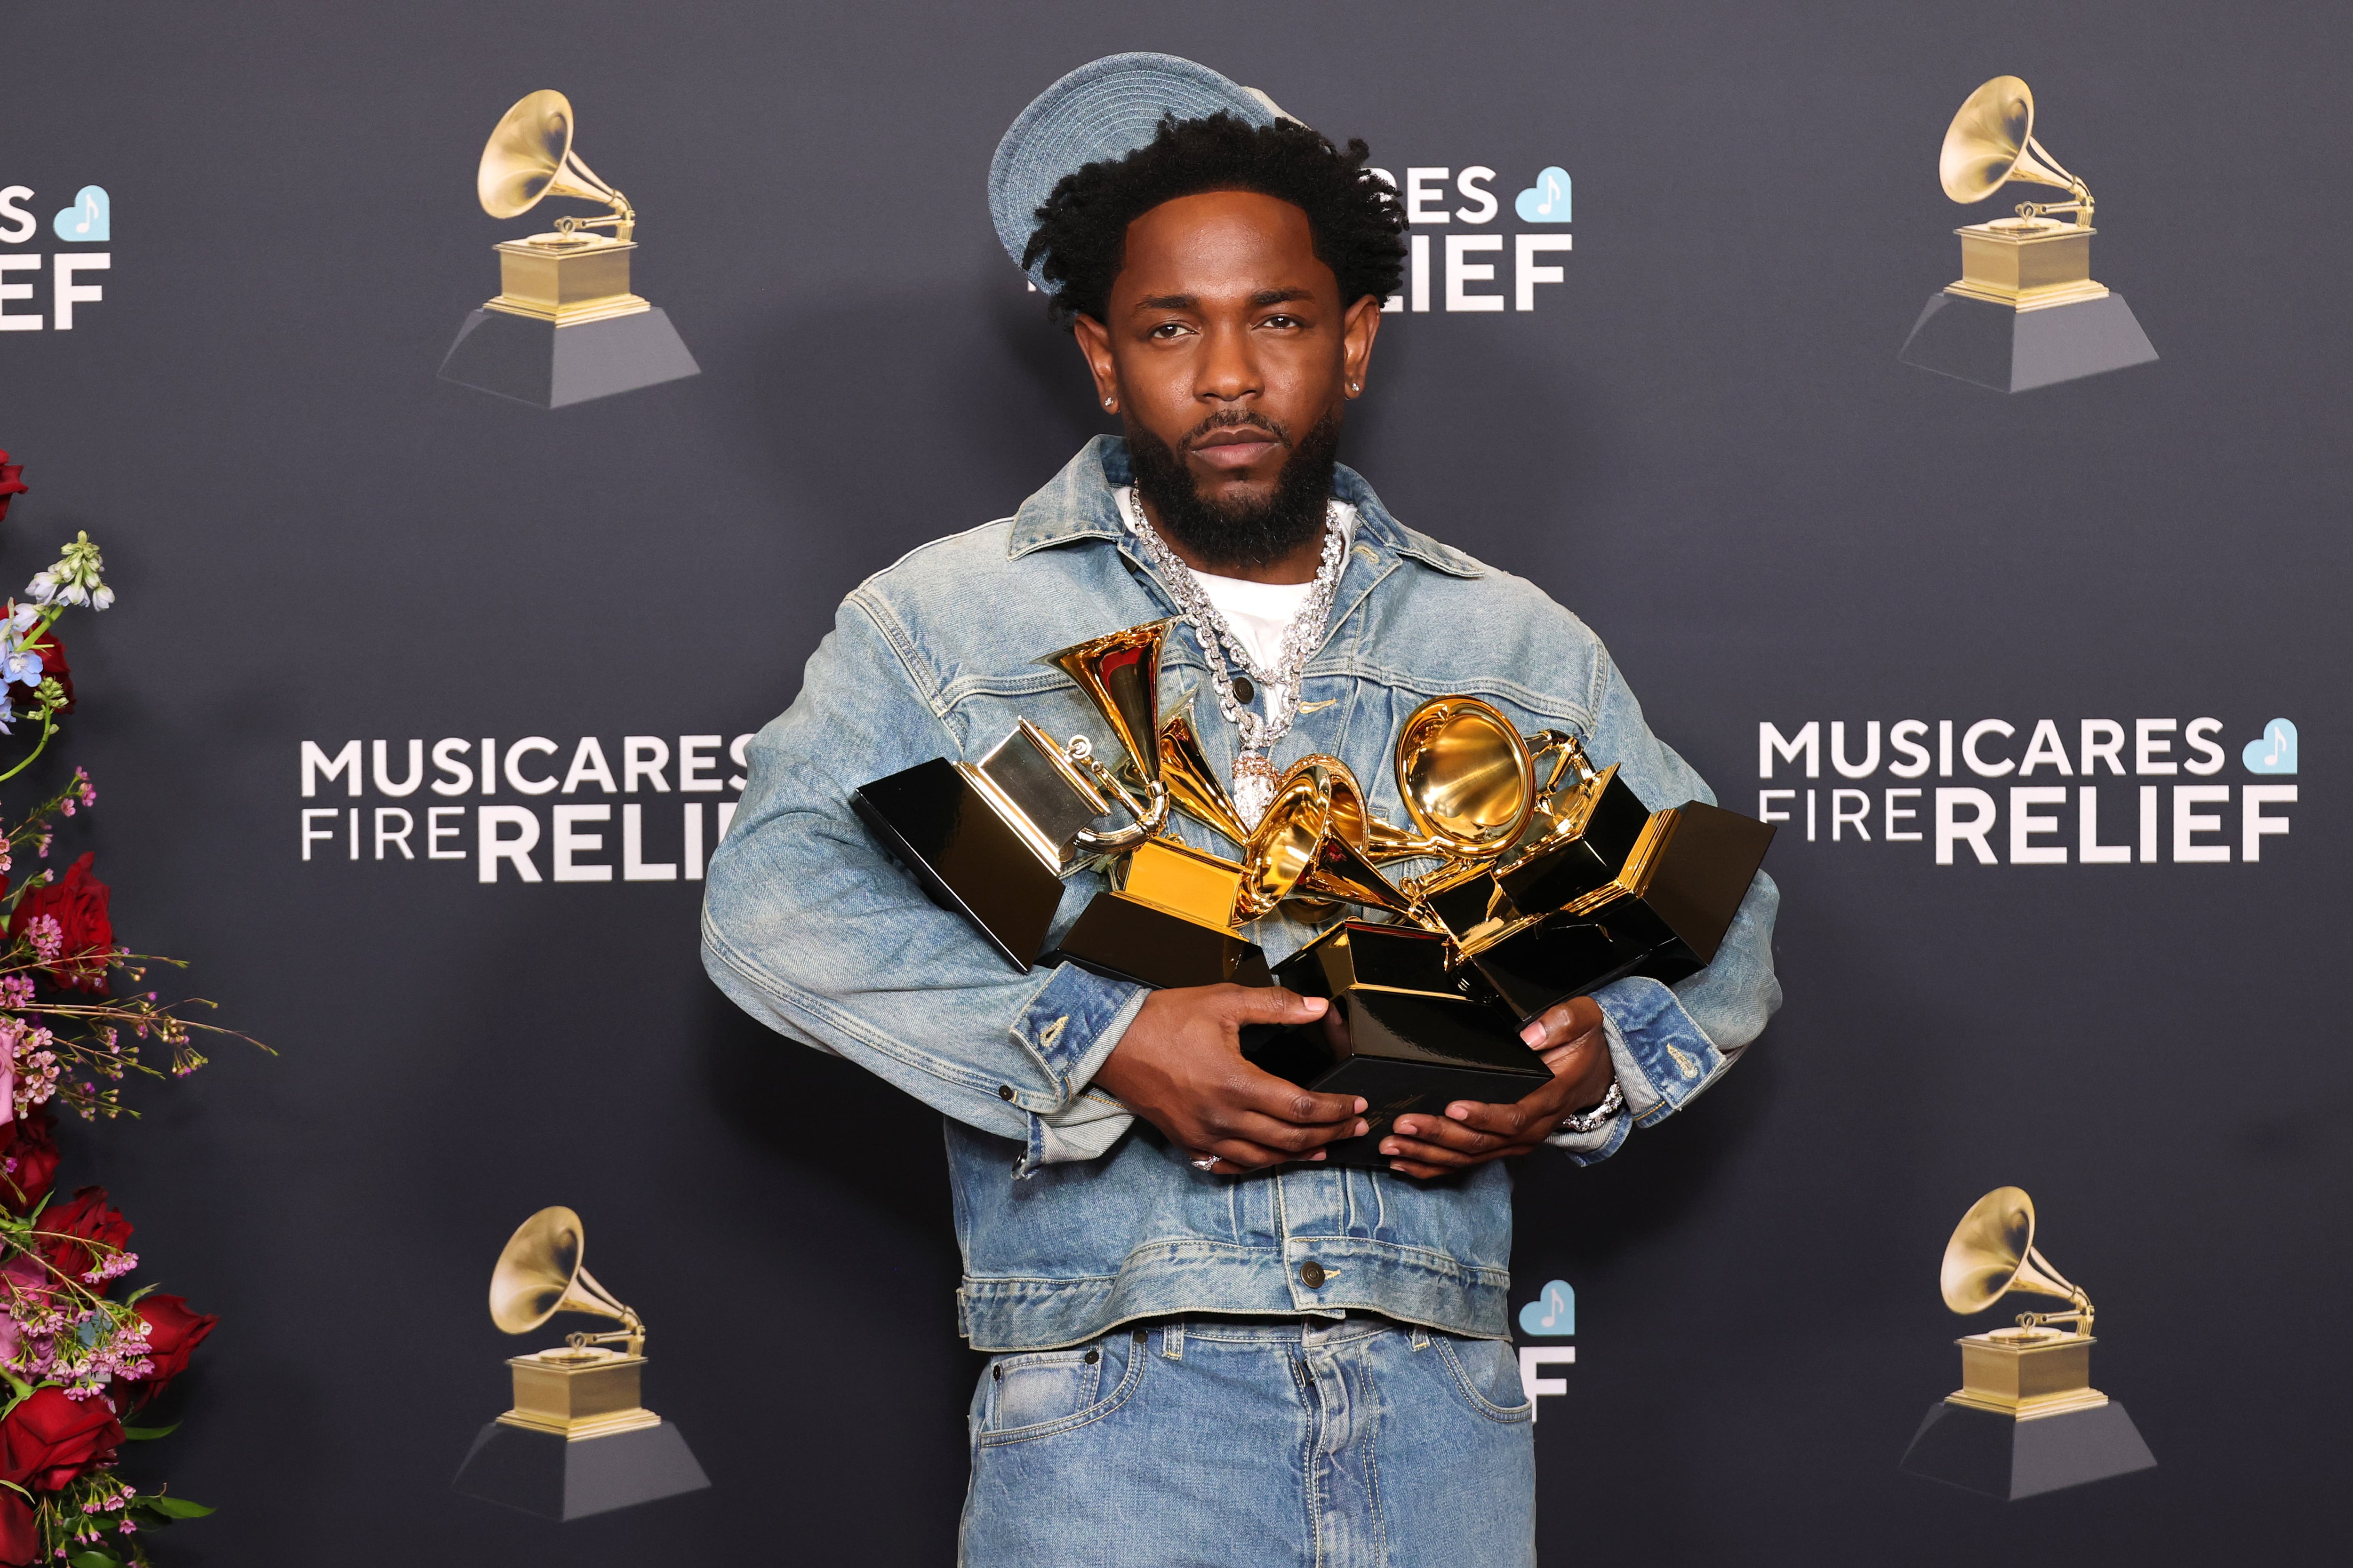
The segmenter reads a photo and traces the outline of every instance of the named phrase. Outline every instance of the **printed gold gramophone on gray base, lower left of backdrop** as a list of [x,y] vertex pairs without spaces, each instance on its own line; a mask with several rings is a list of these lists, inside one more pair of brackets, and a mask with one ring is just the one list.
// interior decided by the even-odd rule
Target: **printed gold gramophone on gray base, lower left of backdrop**
[[569,1208],[541,1208],[499,1253],[489,1321],[532,1333],[560,1312],[619,1324],[511,1356],[515,1403],[482,1427],[456,1490],[548,1519],[581,1519],[711,1486],[687,1439],[640,1403],[645,1321],[584,1267]]

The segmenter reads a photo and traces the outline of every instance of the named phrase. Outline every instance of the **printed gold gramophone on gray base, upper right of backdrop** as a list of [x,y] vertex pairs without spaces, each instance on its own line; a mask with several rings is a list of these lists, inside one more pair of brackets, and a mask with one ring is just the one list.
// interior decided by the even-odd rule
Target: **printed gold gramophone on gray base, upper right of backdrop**
[[2007,219],[1953,230],[1960,280],[1929,296],[1899,355],[1906,364],[2024,393],[2158,357],[2125,296],[2092,282],[2092,188],[2035,141],[2026,82],[1998,75],[1969,94],[1944,134],[1937,179],[1962,205],[2012,181],[2068,200],[2019,202]]

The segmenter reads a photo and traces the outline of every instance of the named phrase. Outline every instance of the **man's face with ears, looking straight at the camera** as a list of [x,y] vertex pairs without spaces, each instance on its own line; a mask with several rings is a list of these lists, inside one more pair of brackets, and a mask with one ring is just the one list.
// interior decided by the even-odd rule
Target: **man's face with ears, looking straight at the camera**
[[1181,461],[1202,505],[1249,515],[1275,503],[1301,440],[1339,425],[1379,310],[1344,306],[1299,207],[1212,190],[1127,226],[1111,320],[1075,329],[1096,397]]

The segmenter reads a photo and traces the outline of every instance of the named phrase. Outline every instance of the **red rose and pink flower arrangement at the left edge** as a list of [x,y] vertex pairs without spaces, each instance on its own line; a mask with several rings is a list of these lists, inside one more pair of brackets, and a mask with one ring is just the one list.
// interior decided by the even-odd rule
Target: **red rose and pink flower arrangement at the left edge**
[[[24,468],[0,451],[0,522],[26,494]],[[21,599],[0,609],[0,733],[38,724],[24,773],[73,712],[73,670],[56,623],[68,609],[115,602],[89,534],[78,534]],[[153,959],[115,945],[111,889],[85,853],[64,877],[24,872],[49,858],[59,818],[99,804],[82,769],[0,835],[0,1563],[122,1568],[148,1563],[144,1533],[212,1509],[141,1490],[118,1472],[125,1443],[174,1427],[129,1425],[181,1371],[216,1324],[153,1286],[122,1291],[139,1267],[132,1225],[104,1187],[54,1192],[56,1107],[82,1119],[136,1117],[129,1077],[186,1077],[205,1065],[191,1011],[136,990]],[[118,983],[122,990],[118,992]],[[148,1060],[148,1053],[160,1058]]]

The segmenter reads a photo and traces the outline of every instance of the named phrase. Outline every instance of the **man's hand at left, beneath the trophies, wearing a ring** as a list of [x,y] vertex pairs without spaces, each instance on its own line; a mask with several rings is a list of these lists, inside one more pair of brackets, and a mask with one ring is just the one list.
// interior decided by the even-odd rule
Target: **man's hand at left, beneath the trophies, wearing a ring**
[[1242,1060],[1242,1025],[1308,1023],[1320,997],[1252,985],[1153,992],[1094,1081],[1120,1095],[1181,1150],[1217,1157],[1219,1175],[1322,1159],[1337,1138],[1365,1131],[1355,1095],[1311,1095]]

